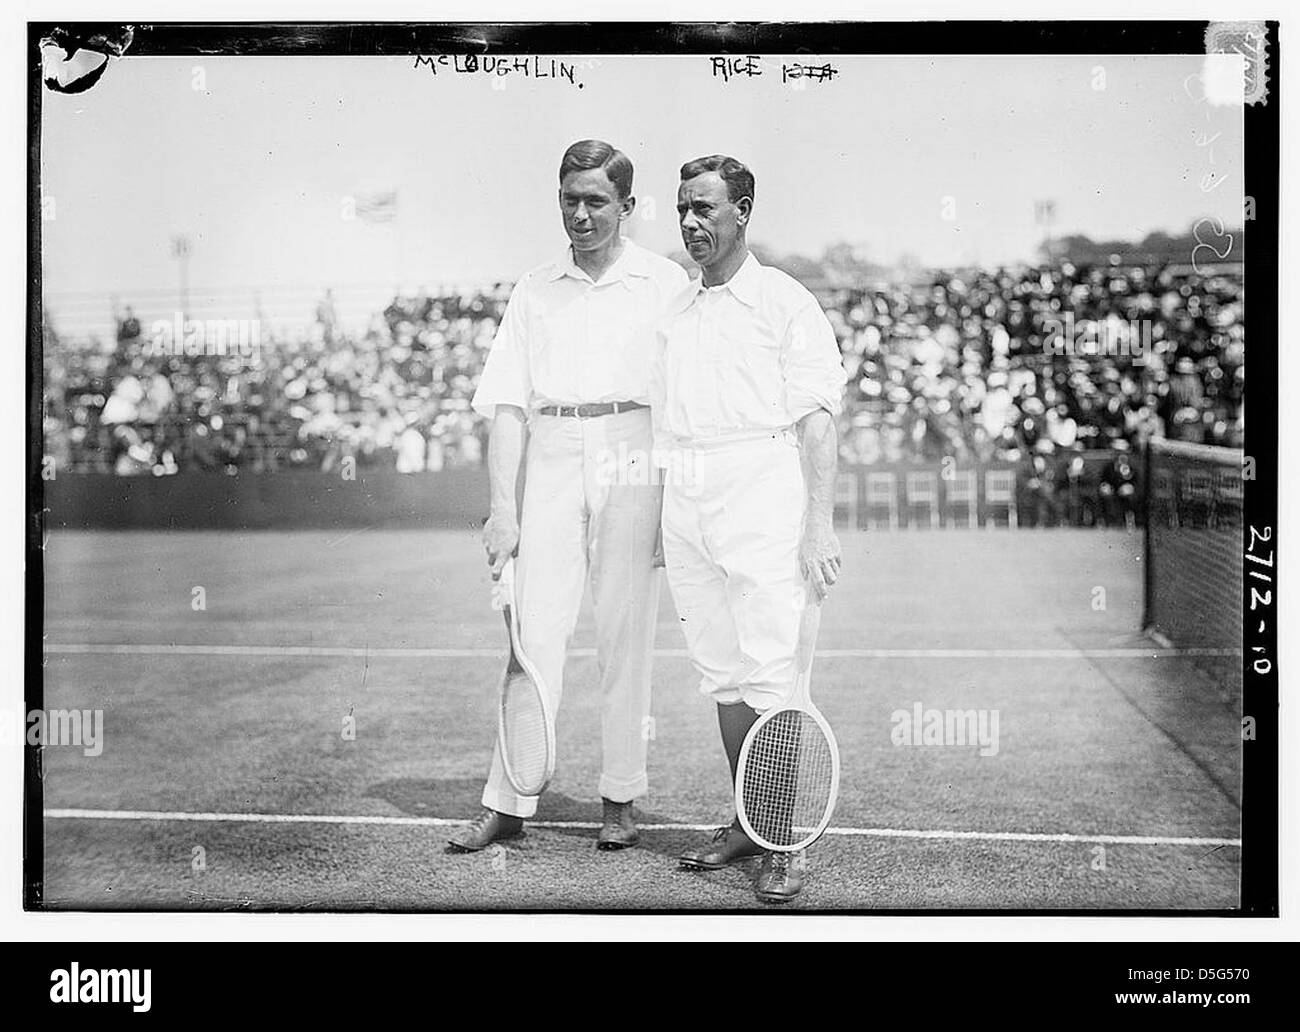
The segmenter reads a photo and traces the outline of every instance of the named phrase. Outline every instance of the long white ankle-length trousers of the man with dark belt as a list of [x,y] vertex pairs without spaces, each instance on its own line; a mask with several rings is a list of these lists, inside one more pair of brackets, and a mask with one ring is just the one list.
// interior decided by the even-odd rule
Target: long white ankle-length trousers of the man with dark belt
[[[586,585],[595,611],[601,678],[599,792],[614,802],[646,793],[650,662],[659,608],[654,568],[659,499],[650,469],[649,409],[594,419],[534,416],[529,425],[515,589],[520,638],[559,711],[568,651]],[[500,764],[499,743],[482,803],[530,818]]]

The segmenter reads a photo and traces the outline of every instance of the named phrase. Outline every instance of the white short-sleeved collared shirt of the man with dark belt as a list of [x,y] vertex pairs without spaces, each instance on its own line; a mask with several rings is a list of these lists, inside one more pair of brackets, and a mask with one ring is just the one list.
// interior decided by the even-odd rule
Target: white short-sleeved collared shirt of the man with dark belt
[[491,419],[499,404],[525,412],[556,404],[649,404],[654,329],[686,283],[677,263],[629,239],[599,282],[566,248],[515,285],[474,391],[474,411]]

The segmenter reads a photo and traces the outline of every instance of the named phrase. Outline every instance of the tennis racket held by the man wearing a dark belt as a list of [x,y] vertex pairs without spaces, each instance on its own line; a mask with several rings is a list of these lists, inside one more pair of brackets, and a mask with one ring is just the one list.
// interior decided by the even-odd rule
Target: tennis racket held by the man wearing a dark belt
[[541,795],[555,773],[555,723],[551,720],[546,685],[519,643],[514,559],[507,559],[502,568],[495,600],[506,617],[510,636],[510,659],[500,678],[497,712],[502,767],[520,795]]

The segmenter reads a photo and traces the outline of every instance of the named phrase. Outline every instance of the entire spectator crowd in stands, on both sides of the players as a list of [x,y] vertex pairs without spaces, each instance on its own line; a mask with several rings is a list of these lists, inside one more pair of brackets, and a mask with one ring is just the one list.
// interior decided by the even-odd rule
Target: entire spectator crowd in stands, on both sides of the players
[[[477,465],[469,399],[507,298],[420,291],[347,333],[326,295],[251,356],[160,348],[130,309],[107,344],[47,325],[47,455],[118,474]],[[1030,522],[1113,522],[1140,495],[1148,437],[1242,443],[1239,274],[1054,263],[820,299],[849,373],[848,464],[1014,465]]]

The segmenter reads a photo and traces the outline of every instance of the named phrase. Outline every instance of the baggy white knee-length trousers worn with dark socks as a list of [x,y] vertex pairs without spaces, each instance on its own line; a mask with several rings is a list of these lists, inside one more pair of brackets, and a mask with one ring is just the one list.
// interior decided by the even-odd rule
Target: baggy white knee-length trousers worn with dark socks
[[692,448],[679,468],[664,487],[663,550],[699,690],[759,712],[785,704],[807,599],[794,437]]

